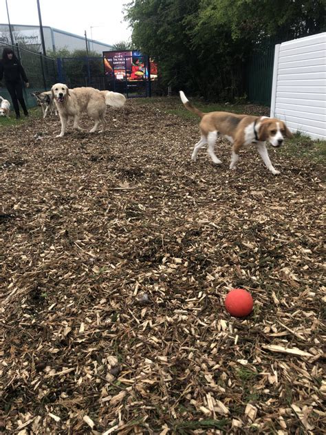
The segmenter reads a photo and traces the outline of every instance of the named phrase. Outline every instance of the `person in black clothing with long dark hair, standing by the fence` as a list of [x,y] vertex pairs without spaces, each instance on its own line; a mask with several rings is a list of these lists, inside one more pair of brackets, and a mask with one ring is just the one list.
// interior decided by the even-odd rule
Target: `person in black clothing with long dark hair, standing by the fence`
[[26,83],[26,87],[29,87],[28,78],[25,74],[21,63],[17,59],[11,48],[6,47],[3,49],[2,61],[0,63],[0,81],[5,78],[6,88],[12,99],[12,105],[14,106],[14,112],[16,112],[16,118],[19,119],[21,114],[19,112],[18,102],[21,103],[25,116],[28,116],[28,109],[25,105],[23,97],[23,83]]

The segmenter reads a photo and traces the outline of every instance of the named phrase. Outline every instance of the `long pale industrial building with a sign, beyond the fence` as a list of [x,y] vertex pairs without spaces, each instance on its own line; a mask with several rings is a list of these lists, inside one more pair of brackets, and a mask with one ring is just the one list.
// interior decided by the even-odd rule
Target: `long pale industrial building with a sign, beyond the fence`
[[[30,46],[30,48],[33,48],[34,50],[36,49],[36,51],[42,51],[39,25],[12,24],[11,29],[14,43],[23,43],[27,48]],[[85,36],[79,36],[77,34],[65,32],[64,30],[51,28],[47,25],[43,25],[43,34],[45,50],[56,52],[61,48],[67,48],[69,52],[73,52],[74,50],[86,49]],[[11,43],[8,24],[0,23],[0,42]],[[87,47],[90,51],[98,52],[99,54],[102,54],[103,51],[111,50],[112,48],[109,44],[88,38]]]

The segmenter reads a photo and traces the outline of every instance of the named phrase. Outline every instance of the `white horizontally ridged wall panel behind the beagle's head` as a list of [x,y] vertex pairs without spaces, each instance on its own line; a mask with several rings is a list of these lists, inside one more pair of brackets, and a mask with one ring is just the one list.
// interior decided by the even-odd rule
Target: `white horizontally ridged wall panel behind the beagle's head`
[[326,139],[326,32],[276,45],[271,116]]

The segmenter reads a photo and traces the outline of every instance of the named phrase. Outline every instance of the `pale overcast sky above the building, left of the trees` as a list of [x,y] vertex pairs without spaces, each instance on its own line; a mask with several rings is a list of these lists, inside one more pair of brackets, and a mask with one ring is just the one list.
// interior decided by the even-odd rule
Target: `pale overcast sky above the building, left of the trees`
[[[10,23],[39,23],[36,0],[7,0]],[[127,41],[131,29],[123,5],[131,0],[40,0],[42,23],[107,44]],[[8,23],[6,0],[0,0],[0,23]]]

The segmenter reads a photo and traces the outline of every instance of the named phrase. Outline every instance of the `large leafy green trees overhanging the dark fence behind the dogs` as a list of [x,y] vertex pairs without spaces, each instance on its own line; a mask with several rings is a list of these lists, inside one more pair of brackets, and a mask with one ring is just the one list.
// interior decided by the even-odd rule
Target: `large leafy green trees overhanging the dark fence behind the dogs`
[[325,30],[325,0],[133,0],[126,19],[164,86],[225,99],[242,95],[260,44]]

